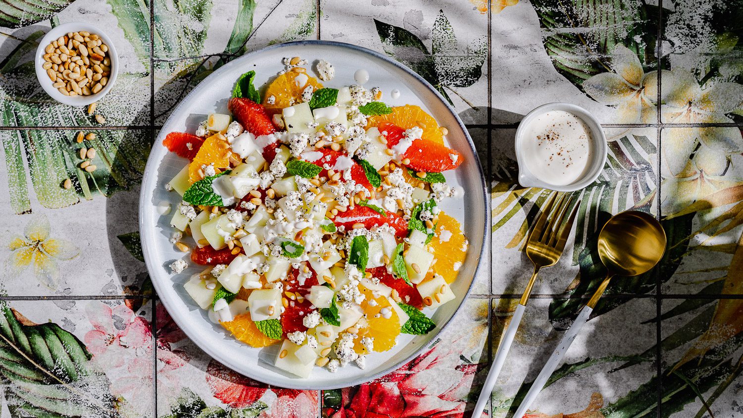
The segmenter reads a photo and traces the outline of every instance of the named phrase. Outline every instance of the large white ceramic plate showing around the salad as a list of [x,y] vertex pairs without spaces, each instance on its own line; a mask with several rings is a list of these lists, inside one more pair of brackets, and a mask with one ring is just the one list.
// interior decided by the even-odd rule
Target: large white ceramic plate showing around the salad
[[[183,288],[190,275],[201,271],[203,267],[189,266],[181,274],[171,274],[168,265],[175,259],[184,258],[191,263],[188,255],[178,252],[168,242],[173,232],[169,226],[170,215],[160,216],[155,207],[160,201],[166,200],[175,208],[181,200],[177,193],[167,192],[165,184],[186,164],[186,160],[169,153],[162,145],[165,135],[172,131],[193,132],[207,114],[227,113],[227,100],[241,74],[256,71],[256,86],[263,86],[283,69],[282,59],[291,56],[308,59],[312,69],[318,59],[331,62],[336,75],[330,82],[323,83],[328,87],[356,84],[354,72],[366,69],[369,71],[366,87],[380,87],[384,94],[383,101],[388,105],[420,105],[441,126],[449,129],[449,146],[461,152],[464,163],[454,172],[447,172],[447,181],[452,186],[461,186],[464,196],[457,200],[445,200],[443,209],[459,221],[464,221],[464,232],[470,240],[467,259],[452,284],[457,298],[435,312],[424,311],[437,324],[435,330],[424,336],[400,335],[397,346],[392,350],[368,356],[364,370],[354,364],[340,368],[337,373],[315,368],[308,379],[296,378],[273,367],[280,344],[261,349],[249,347],[233,339],[220,325],[209,321],[207,313],[196,306]],[[400,91],[398,99],[391,98],[393,89]],[[204,79],[173,111],[155,140],[147,161],[140,195],[140,232],[147,268],[160,300],[186,335],[210,356],[245,376],[270,385],[301,389],[343,388],[367,382],[405,364],[428,347],[454,316],[470,291],[481,260],[488,229],[486,193],[484,175],[467,130],[447,102],[424,79],[398,62],[365,48],[340,42],[291,42],[249,53],[224,65]]]

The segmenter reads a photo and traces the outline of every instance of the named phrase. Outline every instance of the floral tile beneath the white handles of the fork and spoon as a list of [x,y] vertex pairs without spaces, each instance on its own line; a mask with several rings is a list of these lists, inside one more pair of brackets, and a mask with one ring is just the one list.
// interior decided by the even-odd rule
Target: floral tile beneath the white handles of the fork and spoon
[[[494,301],[493,355],[518,302]],[[507,417],[516,411],[562,338],[570,321],[562,318],[557,302],[548,298],[529,302],[493,392],[491,417]],[[577,314],[577,308],[571,313]],[[550,385],[531,406],[534,412],[529,416],[655,416],[658,385],[652,347],[656,326],[647,322],[655,318],[655,311],[654,298],[620,298],[611,310],[589,320],[551,376]]]

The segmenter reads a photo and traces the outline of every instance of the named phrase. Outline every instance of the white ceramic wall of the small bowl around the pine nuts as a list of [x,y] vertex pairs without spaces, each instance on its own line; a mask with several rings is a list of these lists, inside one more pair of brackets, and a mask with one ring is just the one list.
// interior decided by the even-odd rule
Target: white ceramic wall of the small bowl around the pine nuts
[[[59,93],[59,90],[52,87],[54,83],[49,78],[47,71],[42,68],[42,65],[44,65],[45,62],[45,49],[47,45],[51,44],[53,40],[58,39],[59,36],[65,36],[67,33],[70,32],[80,32],[80,30],[95,33],[96,35],[100,36],[100,39],[103,39],[103,43],[108,46],[108,52],[106,52],[106,55],[108,56],[108,59],[111,59],[111,74],[108,75],[108,82],[106,83],[106,85],[104,85],[103,88],[96,94],[91,94],[90,96],[65,96],[64,94]],[[116,82],[116,76],[119,72],[119,57],[116,54],[116,47],[114,47],[114,42],[111,41],[111,38],[109,38],[106,33],[103,32],[103,30],[100,30],[95,25],[91,25],[85,22],[68,22],[63,25],[53,27],[52,30],[50,30],[44,36],[44,38],[42,38],[42,40],[39,42],[39,48],[36,48],[36,59],[34,59],[34,65],[36,66],[36,78],[39,79],[39,84],[42,85],[44,91],[46,91],[52,99],[55,99],[57,102],[65,105],[85,106],[102,99],[103,96],[106,96],[106,93],[111,90],[114,82]]]

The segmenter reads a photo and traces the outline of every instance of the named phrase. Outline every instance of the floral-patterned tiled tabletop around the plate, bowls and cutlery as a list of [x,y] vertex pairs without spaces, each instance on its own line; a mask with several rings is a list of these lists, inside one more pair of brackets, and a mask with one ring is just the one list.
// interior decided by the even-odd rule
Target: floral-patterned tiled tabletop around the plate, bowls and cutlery
[[[705,404],[716,417],[743,414],[743,33],[735,17],[743,1],[648,3],[77,0],[53,19],[27,14],[21,27],[0,27],[0,299],[29,333],[58,324],[77,337],[92,359],[69,370],[96,372],[67,387],[45,381],[44,390],[62,391],[51,403],[49,392],[31,396],[19,389],[27,382],[12,381],[0,417],[468,416],[531,273],[520,249],[547,197],[516,185],[513,134],[523,114],[555,101],[600,119],[609,164],[575,194],[586,209],[565,257],[540,273],[490,415],[509,416],[600,279],[591,263],[596,231],[625,209],[661,218],[666,255],[652,272],[612,282],[534,414],[703,417]],[[49,101],[29,71],[34,36],[74,20],[106,27],[119,50],[123,72],[98,105],[106,126]],[[390,38],[394,27],[406,41]],[[143,163],[172,108],[235,56],[298,39],[349,42],[433,68],[429,81],[468,124],[492,186],[487,259],[456,326],[395,373],[340,391],[266,388],[224,369],[161,305],[152,318],[152,286],[130,251]],[[93,177],[77,169],[79,126],[106,150]],[[66,177],[74,189],[59,188]],[[24,252],[33,254],[28,263]],[[103,404],[64,393],[77,385]]]

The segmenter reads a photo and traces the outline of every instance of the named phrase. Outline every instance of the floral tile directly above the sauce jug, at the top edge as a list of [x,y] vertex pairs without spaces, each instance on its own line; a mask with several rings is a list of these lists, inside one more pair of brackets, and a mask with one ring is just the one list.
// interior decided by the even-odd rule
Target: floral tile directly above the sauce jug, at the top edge
[[571,102],[601,123],[656,123],[657,16],[648,2],[534,0],[494,9],[492,122],[517,123],[538,105]]

